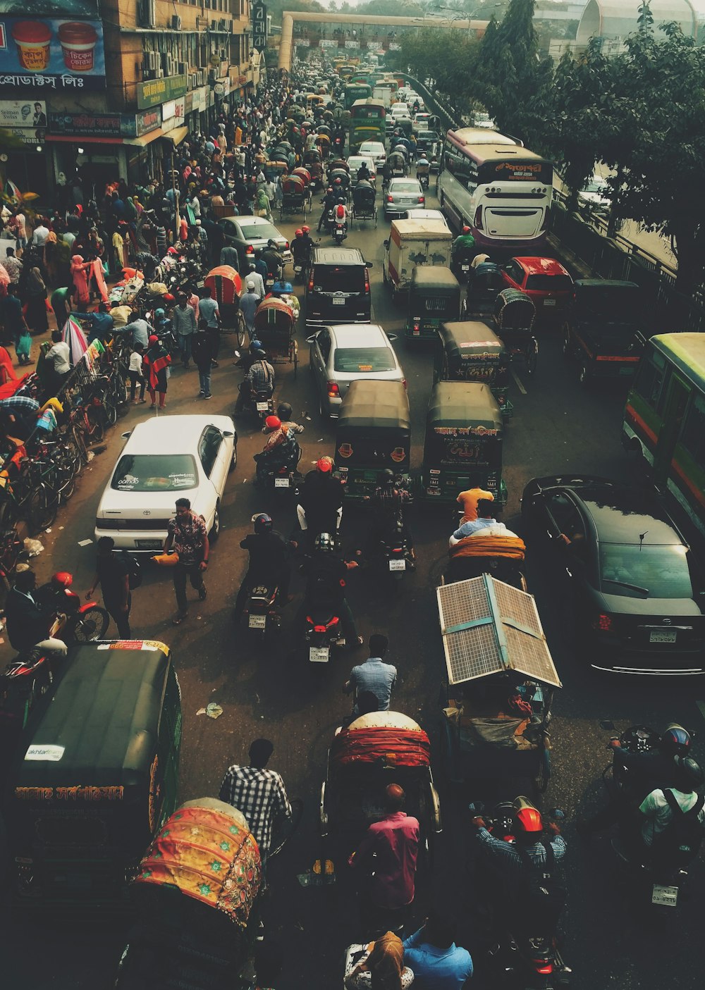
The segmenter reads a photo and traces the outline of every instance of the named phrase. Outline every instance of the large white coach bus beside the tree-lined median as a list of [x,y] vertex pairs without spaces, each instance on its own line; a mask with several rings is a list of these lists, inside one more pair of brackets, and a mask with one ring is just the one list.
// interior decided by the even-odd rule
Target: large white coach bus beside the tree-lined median
[[477,247],[537,254],[546,242],[554,165],[496,131],[449,131],[436,191],[444,213]]

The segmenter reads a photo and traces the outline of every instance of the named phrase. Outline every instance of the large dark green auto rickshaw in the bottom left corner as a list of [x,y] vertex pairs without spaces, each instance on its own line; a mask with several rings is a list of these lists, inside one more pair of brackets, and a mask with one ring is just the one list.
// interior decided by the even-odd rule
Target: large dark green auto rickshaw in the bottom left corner
[[181,695],[168,646],[71,647],[4,802],[16,904],[110,908],[176,806]]

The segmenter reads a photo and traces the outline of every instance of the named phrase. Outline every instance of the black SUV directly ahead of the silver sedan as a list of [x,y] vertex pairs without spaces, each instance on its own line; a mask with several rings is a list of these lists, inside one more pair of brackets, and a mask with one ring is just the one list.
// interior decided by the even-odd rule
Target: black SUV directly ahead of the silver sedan
[[355,247],[316,247],[306,286],[306,326],[369,323],[369,272]]

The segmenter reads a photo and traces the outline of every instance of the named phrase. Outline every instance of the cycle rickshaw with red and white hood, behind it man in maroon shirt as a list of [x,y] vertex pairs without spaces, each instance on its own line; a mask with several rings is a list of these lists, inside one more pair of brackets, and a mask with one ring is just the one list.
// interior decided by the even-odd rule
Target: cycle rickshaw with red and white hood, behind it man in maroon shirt
[[373,822],[384,818],[384,790],[404,788],[404,810],[421,826],[422,855],[443,831],[441,803],[431,772],[431,743],[423,729],[400,712],[370,712],[339,729],[328,750],[321,786],[322,837],[345,837],[347,848]]

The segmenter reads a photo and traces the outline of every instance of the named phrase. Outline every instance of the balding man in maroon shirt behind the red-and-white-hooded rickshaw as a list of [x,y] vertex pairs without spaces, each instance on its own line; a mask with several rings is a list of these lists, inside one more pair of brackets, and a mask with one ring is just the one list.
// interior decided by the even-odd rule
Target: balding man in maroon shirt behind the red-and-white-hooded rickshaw
[[397,929],[414,901],[420,826],[402,811],[405,797],[398,784],[387,785],[384,818],[368,827],[348,860],[360,878],[359,914],[365,931]]

